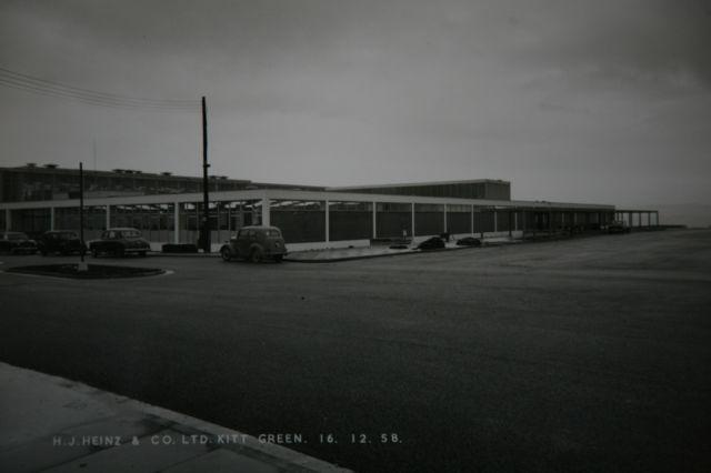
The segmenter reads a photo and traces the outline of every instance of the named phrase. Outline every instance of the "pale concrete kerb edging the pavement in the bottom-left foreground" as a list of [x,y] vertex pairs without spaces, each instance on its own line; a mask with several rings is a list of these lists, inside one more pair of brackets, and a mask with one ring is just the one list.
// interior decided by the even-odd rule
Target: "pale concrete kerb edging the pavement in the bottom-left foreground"
[[[229,450],[238,455],[247,459],[253,459],[262,463],[272,465],[280,471],[298,471],[298,472],[351,472],[351,470],[340,467],[338,465],[324,462],[322,460],[289,450],[273,443],[261,442],[260,440],[243,434],[241,432],[223,427],[200,419],[191,417],[178,412],[173,412],[163,407],[147,404],[130,397],[92,388],[90,385],[67,380],[60,376],[40,373],[33,370],[21,369],[3,362],[0,362],[0,369],[6,372],[14,372],[21,375],[24,383],[43,386],[43,390],[51,392],[52,390],[70,390],[84,399],[92,399],[102,405],[110,406],[114,412],[124,417],[140,414],[147,419],[156,419],[160,424],[186,434],[204,434],[212,437],[230,437],[240,439],[239,442],[228,442],[220,444],[219,450]],[[29,378],[28,378],[29,376]],[[30,388],[32,389],[32,388]],[[59,391],[58,391],[59,392]],[[99,419],[97,419],[99,420]],[[56,434],[57,432],[52,432]],[[42,435],[44,437],[44,435]],[[12,447],[10,447],[12,449]],[[216,450],[218,450],[216,449]],[[97,453],[97,451],[92,452]]]

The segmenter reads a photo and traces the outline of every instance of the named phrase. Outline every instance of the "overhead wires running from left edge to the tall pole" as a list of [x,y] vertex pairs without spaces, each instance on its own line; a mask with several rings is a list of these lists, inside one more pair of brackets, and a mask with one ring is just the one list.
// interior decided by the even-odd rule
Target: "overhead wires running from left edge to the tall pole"
[[0,68],[0,85],[46,97],[77,100],[98,107],[179,112],[194,112],[200,109],[200,101],[198,100],[149,99],[98,92],[36,78],[4,68]]

